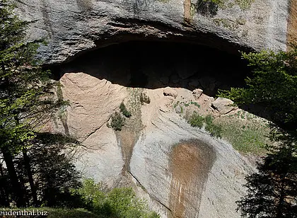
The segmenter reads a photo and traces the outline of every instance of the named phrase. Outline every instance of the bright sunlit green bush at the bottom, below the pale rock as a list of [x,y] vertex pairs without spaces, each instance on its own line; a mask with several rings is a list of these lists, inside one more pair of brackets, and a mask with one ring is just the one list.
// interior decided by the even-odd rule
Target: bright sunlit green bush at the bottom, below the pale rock
[[139,200],[132,188],[113,188],[107,190],[102,183],[86,179],[83,187],[76,190],[86,202],[86,207],[103,217],[160,217],[156,212],[150,212],[144,200]]

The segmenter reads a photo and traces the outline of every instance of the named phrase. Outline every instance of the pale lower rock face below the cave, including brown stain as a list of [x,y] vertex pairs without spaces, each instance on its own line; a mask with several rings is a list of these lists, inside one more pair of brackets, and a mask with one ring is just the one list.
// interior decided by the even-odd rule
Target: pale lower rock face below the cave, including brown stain
[[[173,101],[195,101],[192,91],[170,88],[176,99],[168,98],[163,88],[126,88],[83,72],[60,81],[70,103],[61,131],[84,146],[76,151],[83,176],[112,187],[132,185],[164,218],[240,217],[235,201],[255,168],[230,144],[190,127],[175,112]],[[141,104],[141,93],[150,103]],[[107,122],[121,102],[132,117],[119,132]]]

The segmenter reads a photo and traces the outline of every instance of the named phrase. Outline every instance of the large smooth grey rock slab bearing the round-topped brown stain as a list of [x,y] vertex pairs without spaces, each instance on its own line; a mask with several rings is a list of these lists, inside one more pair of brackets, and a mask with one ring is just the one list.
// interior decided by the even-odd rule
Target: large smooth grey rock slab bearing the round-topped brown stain
[[[240,217],[235,201],[255,169],[230,144],[159,113],[134,146],[130,172],[170,217]],[[164,207],[165,206],[165,207]]]

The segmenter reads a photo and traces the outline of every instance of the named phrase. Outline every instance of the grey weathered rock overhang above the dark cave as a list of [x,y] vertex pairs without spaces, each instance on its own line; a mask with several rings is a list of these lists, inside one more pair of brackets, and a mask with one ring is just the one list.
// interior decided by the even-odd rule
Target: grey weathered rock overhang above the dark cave
[[[292,1],[293,2],[293,1]],[[250,3],[250,4],[249,4]],[[286,49],[289,0],[23,0],[18,13],[33,23],[29,38],[45,38],[40,57],[64,62],[78,52],[128,40],[173,40],[237,52]],[[292,33],[293,30],[288,30]],[[187,77],[192,69],[181,69]]]

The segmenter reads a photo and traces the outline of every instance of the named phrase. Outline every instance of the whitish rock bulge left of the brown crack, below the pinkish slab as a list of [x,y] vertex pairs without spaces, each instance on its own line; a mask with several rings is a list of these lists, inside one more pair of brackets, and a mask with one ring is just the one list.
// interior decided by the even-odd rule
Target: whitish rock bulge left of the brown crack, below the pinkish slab
[[117,185],[124,161],[122,150],[112,129],[103,125],[83,141],[84,147],[76,151],[76,167],[85,178],[94,178],[109,187]]

